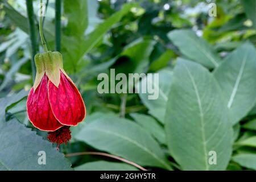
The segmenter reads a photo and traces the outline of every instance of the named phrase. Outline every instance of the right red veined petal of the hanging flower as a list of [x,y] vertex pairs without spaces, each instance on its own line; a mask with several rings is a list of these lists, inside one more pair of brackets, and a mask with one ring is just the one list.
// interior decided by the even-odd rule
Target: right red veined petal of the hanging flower
[[59,87],[49,81],[48,89],[53,114],[61,124],[76,126],[85,118],[84,101],[70,78],[60,72]]

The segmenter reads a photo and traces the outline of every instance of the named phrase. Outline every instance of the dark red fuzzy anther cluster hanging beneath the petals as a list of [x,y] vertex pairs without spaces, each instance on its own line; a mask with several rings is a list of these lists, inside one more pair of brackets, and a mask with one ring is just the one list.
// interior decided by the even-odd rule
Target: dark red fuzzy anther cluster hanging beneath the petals
[[56,131],[48,132],[48,140],[52,143],[62,144],[71,139],[71,131],[69,130],[69,126],[63,126]]

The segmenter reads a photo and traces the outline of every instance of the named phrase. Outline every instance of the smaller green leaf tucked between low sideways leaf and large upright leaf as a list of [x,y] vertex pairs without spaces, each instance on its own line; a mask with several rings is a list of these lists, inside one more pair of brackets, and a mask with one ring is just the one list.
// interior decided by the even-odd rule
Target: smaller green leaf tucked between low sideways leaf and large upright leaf
[[131,113],[131,117],[143,127],[148,133],[150,133],[156,140],[160,143],[166,143],[166,135],[164,133],[163,127],[152,117],[139,114],[139,113]]

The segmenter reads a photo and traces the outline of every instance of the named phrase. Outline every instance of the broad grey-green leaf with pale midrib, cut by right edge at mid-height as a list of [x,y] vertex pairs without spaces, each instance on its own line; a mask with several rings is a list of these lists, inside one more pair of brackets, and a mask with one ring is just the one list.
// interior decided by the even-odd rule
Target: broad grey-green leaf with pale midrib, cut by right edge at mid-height
[[214,72],[221,86],[230,121],[236,124],[256,102],[256,51],[250,43],[236,49]]

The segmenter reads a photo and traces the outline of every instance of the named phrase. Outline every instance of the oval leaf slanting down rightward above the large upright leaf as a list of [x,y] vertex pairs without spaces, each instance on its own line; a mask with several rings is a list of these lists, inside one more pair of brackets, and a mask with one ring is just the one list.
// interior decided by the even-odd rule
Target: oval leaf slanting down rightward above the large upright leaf
[[207,68],[215,68],[220,64],[220,57],[214,52],[212,46],[192,30],[174,30],[168,33],[168,38],[183,55],[197,63]]

